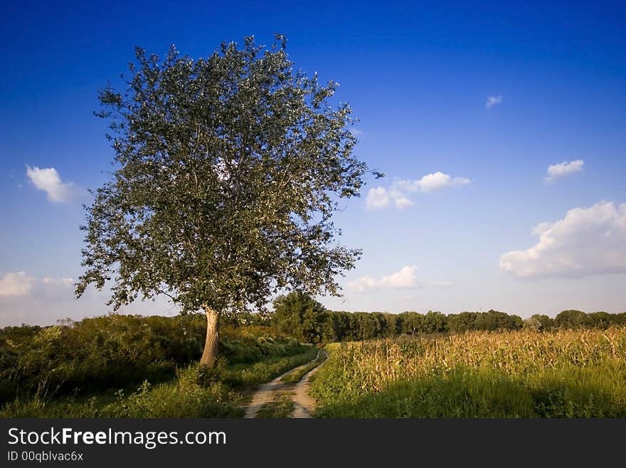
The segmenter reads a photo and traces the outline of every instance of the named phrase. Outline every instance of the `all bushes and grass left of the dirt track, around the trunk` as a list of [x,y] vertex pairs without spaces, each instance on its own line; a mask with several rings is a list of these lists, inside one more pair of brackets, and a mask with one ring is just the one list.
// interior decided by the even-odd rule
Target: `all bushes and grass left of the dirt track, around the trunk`
[[0,417],[238,417],[248,388],[315,358],[263,326],[226,326],[198,365],[197,316],[105,316],[0,331]]

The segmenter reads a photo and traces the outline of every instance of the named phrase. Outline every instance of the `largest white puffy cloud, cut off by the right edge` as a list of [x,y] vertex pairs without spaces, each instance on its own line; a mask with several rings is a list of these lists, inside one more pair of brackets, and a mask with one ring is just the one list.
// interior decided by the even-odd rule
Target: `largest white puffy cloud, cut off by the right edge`
[[501,269],[519,277],[626,273],[626,203],[570,209],[533,234],[534,246],[500,256]]

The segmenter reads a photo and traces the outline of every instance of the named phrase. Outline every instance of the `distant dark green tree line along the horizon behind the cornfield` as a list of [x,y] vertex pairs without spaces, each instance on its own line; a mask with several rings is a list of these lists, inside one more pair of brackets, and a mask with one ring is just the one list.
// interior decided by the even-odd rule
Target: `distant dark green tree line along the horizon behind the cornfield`
[[292,292],[275,299],[274,310],[266,319],[273,328],[307,343],[359,341],[391,338],[399,335],[430,333],[463,333],[532,328],[550,331],[554,328],[608,328],[626,326],[626,312],[606,313],[563,311],[555,318],[535,314],[526,320],[500,312],[462,312],[444,314],[403,312],[329,311],[304,293]]

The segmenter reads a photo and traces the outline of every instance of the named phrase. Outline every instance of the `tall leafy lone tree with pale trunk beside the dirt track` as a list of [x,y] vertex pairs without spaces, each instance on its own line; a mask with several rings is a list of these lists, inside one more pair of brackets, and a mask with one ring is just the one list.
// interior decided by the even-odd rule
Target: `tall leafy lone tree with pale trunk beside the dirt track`
[[127,89],[99,93],[115,170],[85,207],[76,295],[112,281],[115,310],[159,294],[203,310],[203,365],[221,314],[287,289],[339,295],[335,276],[361,253],[337,243],[331,222],[367,171],[352,155],[351,108],[331,105],[336,83],[295,71],[276,39],[198,60],[137,48]]

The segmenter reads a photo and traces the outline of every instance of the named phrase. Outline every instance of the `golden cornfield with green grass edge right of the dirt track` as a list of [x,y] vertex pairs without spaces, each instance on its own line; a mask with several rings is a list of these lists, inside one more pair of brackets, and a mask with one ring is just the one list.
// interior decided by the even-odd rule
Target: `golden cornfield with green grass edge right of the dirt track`
[[319,417],[626,417],[626,328],[329,346]]

